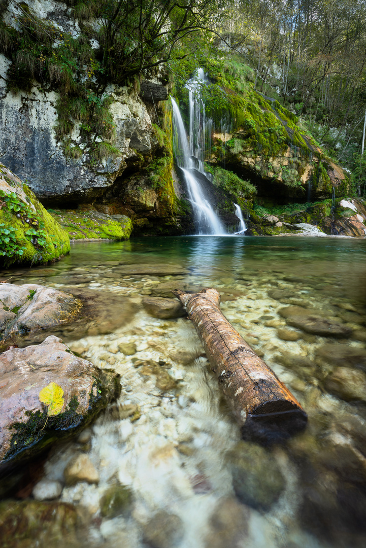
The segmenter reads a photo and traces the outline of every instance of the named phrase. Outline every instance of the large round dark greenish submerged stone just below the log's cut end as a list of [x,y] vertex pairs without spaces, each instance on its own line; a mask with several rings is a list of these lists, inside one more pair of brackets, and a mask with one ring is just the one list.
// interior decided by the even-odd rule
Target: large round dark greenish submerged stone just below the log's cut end
[[256,443],[241,441],[228,458],[238,498],[254,508],[270,508],[284,488],[284,477],[273,455]]

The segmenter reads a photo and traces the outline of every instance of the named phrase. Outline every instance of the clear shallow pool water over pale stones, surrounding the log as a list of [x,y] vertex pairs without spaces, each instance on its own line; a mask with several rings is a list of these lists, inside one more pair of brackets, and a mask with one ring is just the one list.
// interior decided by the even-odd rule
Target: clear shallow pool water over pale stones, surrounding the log
[[[365,252],[365,241],[335,238],[140,238],[75,243],[50,268],[8,271],[12,282],[43,283],[95,303],[96,319],[61,335],[72,350],[121,374],[121,398],[87,443],[57,447],[44,464],[47,478],[64,483],[68,461],[85,452],[99,473],[98,485],[65,486],[60,497],[83,513],[80,545],[365,545]],[[167,264],[185,273],[118,271],[164,271]],[[306,431],[287,444],[238,445],[238,426],[191,323],[152,318],[141,306],[144,295],[208,286],[220,291],[227,318],[308,413]],[[289,296],[274,298],[273,290]],[[353,334],[333,339],[288,326],[279,310],[289,305],[316,309]],[[297,340],[283,340],[283,331]],[[135,352],[125,355],[121,344]],[[174,381],[165,390],[157,367]],[[341,381],[331,379],[339,367]],[[118,486],[128,486],[132,501],[108,513],[103,497]],[[176,536],[161,511],[176,516]]]

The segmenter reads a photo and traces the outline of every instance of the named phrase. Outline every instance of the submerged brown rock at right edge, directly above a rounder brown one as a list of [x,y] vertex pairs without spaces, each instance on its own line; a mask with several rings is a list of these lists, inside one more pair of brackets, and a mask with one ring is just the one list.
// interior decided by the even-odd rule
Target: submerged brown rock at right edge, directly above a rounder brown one
[[366,370],[366,350],[342,344],[325,344],[315,353],[319,366],[328,363],[331,366],[351,366]]

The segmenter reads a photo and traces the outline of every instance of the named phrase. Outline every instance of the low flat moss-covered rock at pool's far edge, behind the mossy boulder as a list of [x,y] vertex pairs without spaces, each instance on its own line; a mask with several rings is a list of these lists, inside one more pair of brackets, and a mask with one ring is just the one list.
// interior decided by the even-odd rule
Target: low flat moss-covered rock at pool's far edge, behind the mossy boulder
[[49,211],[71,239],[125,240],[130,237],[132,231],[132,221],[125,215],[113,215],[112,218],[93,210],[50,209]]

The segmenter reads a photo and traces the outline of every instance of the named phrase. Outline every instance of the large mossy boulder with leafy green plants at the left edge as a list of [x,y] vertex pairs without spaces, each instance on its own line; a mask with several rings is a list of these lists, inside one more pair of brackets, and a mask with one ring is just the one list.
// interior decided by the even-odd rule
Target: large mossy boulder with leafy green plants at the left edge
[[[0,260],[3,264],[47,264],[70,252],[67,232],[28,186],[3,164],[0,164],[0,190],[3,195],[0,197]],[[9,230],[10,235],[4,233],[4,229]],[[9,237],[12,246],[7,242]]]

